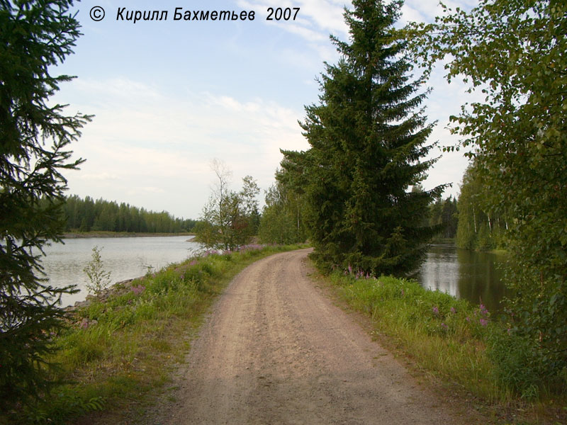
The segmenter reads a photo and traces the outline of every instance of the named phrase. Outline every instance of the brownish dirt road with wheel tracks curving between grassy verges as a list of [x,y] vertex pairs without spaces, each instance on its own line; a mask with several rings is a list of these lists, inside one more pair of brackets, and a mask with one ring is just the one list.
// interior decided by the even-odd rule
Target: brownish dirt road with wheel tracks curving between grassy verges
[[308,252],[270,256],[232,281],[160,423],[462,423],[322,296]]

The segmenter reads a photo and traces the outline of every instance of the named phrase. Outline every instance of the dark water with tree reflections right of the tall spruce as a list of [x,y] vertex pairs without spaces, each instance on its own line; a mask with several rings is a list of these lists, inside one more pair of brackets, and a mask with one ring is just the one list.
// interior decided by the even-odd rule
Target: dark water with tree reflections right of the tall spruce
[[417,273],[424,288],[449,293],[500,312],[500,301],[508,295],[503,283],[503,254],[468,251],[454,244],[434,244]]

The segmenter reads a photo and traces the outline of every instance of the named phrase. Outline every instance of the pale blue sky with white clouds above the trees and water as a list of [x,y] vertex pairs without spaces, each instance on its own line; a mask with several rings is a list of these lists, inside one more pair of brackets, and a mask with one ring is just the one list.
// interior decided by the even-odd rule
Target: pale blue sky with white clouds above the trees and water
[[[477,0],[445,1],[465,10]],[[91,19],[95,6],[102,21]],[[147,210],[196,219],[210,196],[220,159],[232,171],[232,189],[249,175],[264,191],[274,183],[279,149],[306,150],[298,121],[318,103],[316,78],[323,62],[339,60],[329,35],[348,40],[343,0],[146,1],[85,0],[77,3],[83,35],[52,74],[77,76],[60,86],[52,102],[68,104],[68,115],[95,115],[70,145],[86,159],[67,171],[69,195],[129,203]],[[174,21],[183,11],[254,11],[254,21]],[[266,21],[268,8],[300,8],[295,21]],[[164,21],[117,19],[118,10],[168,11]],[[399,25],[431,22],[437,0],[406,0]],[[95,13],[96,16],[101,16]],[[466,86],[447,84],[438,67],[425,101],[429,143],[454,145],[447,129],[468,101]],[[453,183],[457,196],[468,164],[461,152],[441,158],[422,184]]]

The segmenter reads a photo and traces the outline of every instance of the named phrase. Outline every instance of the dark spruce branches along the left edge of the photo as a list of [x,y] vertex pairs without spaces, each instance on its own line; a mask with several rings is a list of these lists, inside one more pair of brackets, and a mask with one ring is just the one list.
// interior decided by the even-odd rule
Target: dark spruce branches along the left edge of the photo
[[79,23],[72,1],[0,0],[0,411],[50,387],[43,358],[62,328],[58,300],[73,287],[53,288],[41,278],[47,241],[60,241],[67,181],[74,169],[67,145],[90,119],[47,106],[59,84],[48,67],[72,53]]

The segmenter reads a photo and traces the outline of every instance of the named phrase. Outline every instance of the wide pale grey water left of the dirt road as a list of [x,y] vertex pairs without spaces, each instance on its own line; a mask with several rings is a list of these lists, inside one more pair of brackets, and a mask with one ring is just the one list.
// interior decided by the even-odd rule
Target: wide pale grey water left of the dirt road
[[53,286],[77,284],[81,292],[66,295],[63,305],[73,305],[87,295],[89,281],[83,269],[92,259],[92,249],[99,246],[103,269],[111,272],[112,283],[137,278],[170,263],[179,263],[199,249],[199,244],[187,242],[190,236],[173,237],[116,237],[64,239],[64,244],[45,247],[42,264]]

